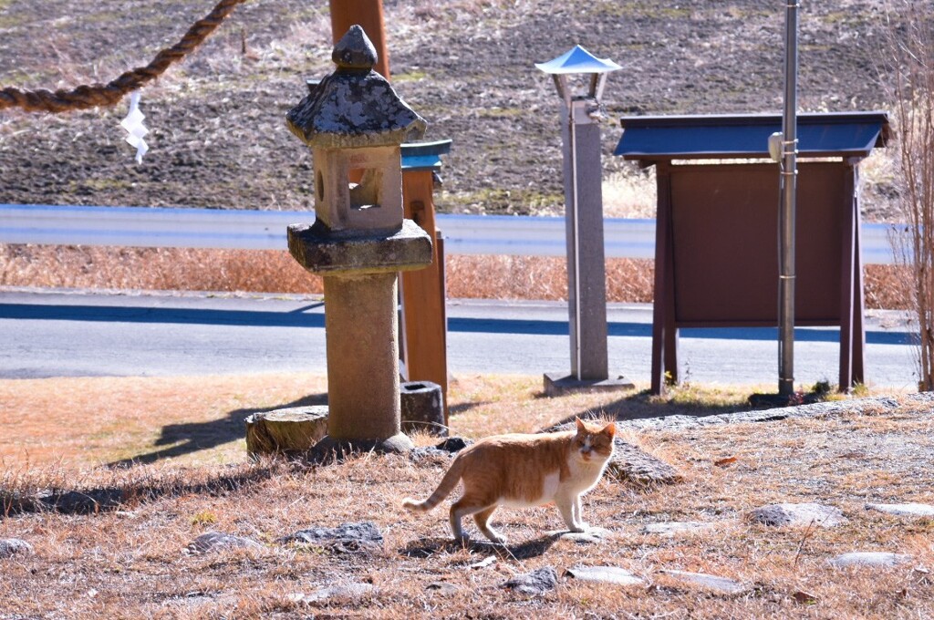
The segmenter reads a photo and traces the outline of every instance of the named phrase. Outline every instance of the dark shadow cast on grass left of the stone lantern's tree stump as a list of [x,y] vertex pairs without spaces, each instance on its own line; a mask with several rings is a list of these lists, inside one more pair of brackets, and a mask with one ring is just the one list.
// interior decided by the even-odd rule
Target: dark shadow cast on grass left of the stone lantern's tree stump
[[200,450],[210,450],[219,445],[246,437],[247,431],[244,420],[248,416],[288,407],[306,407],[327,403],[327,394],[312,394],[297,401],[279,404],[275,407],[234,409],[227,416],[216,420],[169,424],[163,427],[162,434],[155,443],[156,445],[168,447],[131,458],[122,458],[107,463],[106,467],[125,468],[134,465],[149,465],[163,458],[176,458]]

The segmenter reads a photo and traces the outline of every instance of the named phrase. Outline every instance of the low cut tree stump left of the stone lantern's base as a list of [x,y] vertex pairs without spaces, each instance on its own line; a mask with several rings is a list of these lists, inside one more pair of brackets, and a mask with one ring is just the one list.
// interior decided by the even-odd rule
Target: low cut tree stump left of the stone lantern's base
[[247,452],[262,454],[305,452],[328,434],[328,407],[290,407],[247,417]]

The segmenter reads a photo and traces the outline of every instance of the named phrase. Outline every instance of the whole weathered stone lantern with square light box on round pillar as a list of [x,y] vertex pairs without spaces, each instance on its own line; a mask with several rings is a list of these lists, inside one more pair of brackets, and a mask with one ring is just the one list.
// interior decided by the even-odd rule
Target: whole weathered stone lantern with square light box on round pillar
[[402,451],[397,273],[431,264],[432,240],[403,218],[401,146],[426,123],[375,73],[360,26],[332,59],[286,117],[314,159],[317,218],[289,227],[289,250],[324,280],[328,435],[316,451]]

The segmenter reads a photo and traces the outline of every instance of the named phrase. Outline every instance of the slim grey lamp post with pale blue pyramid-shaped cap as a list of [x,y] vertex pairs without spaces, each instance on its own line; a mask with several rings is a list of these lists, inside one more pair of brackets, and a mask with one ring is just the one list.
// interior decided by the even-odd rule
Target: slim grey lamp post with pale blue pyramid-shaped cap
[[[571,373],[545,373],[545,393],[573,389],[631,388],[609,379],[606,350],[606,269],[603,261],[601,193],[601,96],[610,72],[621,67],[575,46],[535,66],[551,75],[561,99],[564,207],[567,229],[568,311]],[[573,94],[569,77],[588,78],[587,91]]]

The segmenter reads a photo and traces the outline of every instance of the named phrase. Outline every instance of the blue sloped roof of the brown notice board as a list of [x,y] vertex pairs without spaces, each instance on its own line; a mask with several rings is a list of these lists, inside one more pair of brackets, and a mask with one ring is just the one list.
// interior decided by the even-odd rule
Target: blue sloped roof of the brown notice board
[[[782,131],[780,114],[624,117],[616,155],[657,162],[769,157],[769,136]],[[866,157],[891,137],[886,112],[798,115],[802,157]]]

